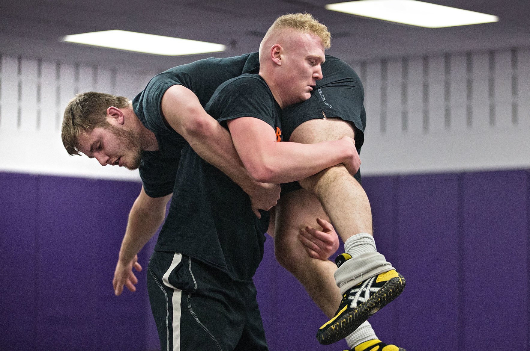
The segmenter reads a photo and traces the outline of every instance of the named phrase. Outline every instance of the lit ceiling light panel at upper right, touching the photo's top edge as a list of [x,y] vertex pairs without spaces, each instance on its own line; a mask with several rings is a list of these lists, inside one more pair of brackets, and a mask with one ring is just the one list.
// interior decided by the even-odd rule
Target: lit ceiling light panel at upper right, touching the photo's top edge
[[426,28],[499,21],[497,16],[416,0],[359,0],[329,4],[326,5],[326,8],[332,11]]

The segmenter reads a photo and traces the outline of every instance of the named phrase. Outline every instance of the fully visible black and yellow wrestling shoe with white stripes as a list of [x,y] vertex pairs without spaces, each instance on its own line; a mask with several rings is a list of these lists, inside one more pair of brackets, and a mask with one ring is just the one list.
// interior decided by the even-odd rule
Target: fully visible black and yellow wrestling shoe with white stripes
[[[335,263],[340,267],[350,258],[348,254],[341,254],[335,258]],[[360,282],[342,296],[335,317],[320,327],[316,339],[322,345],[329,345],[345,338],[397,298],[404,288],[405,278],[394,269]]]

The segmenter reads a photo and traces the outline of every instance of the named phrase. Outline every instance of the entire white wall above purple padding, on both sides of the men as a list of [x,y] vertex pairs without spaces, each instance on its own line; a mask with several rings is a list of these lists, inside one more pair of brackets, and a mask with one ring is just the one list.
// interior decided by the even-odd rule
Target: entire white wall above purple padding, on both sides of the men
[[[366,90],[364,175],[530,166],[530,50],[352,62]],[[155,72],[2,56],[0,171],[139,179],[71,157],[60,141],[68,100],[133,98]]]

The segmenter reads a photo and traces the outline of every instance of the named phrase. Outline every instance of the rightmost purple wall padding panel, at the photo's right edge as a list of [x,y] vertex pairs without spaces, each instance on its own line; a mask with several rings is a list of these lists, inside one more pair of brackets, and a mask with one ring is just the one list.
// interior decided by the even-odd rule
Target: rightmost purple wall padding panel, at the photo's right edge
[[524,349],[528,344],[527,174],[464,175],[464,345]]

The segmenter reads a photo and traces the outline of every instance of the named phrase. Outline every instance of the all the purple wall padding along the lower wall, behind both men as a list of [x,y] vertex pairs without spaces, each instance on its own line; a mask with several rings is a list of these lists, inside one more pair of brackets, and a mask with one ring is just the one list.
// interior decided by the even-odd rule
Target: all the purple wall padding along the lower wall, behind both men
[[[530,172],[365,177],[379,251],[407,279],[370,318],[407,349],[530,349]],[[0,173],[0,349],[152,350],[150,242],[137,292],[111,282],[138,183]],[[255,276],[271,351],[320,346],[326,320],[276,262]],[[443,345],[443,346],[440,346]]]

